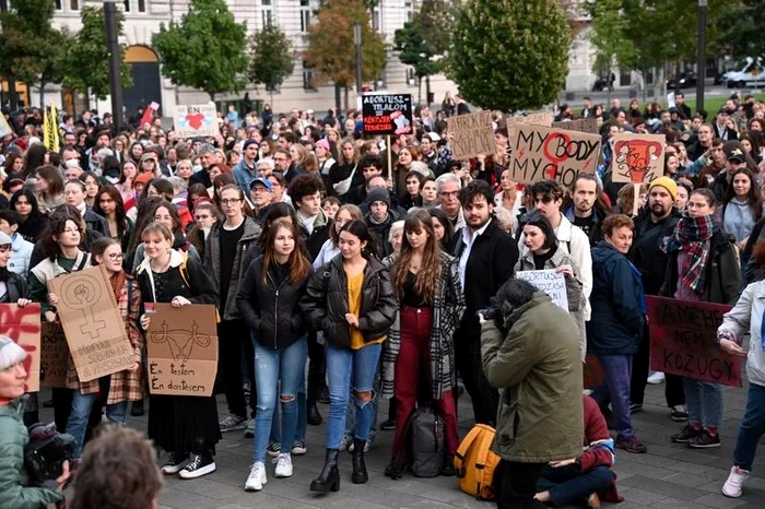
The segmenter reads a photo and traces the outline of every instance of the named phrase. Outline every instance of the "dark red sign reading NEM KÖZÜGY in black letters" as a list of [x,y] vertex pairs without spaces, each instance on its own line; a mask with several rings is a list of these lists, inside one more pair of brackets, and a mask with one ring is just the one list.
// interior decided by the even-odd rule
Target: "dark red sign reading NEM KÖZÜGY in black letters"
[[717,328],[730,306],[646,297],[650,367],[695,380],[741,387],[741,357],[717,345]]

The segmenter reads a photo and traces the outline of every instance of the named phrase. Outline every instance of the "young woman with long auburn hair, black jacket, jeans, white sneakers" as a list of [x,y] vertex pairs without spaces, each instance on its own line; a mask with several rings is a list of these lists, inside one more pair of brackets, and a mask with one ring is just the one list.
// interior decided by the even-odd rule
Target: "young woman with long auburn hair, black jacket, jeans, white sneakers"
[[305,324],[297,303],[313,272],[299,242],[301,235],[291,221],[274,221],[266,232],[264,252],[250,263],[236,297],[239,312],[255,338],[258,405],[255,463],[245,483],[248,492],[261,490],[267,482],[266,448],[278,393],[282,407],[279,434],[282,443],[274,475],[292,476],[290,451],[297,427],[297,391],[308,356]]

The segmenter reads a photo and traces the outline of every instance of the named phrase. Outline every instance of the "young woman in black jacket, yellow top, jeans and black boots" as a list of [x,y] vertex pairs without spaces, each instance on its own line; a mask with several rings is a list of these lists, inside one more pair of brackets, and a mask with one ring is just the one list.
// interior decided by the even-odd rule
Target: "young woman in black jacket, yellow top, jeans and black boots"
[[311,492],[340,489],[338,452],[345,429],[349,387],[354,392],[353,476],[366,483],[364,446],[372,423],[373,390],[381,343],[398,309],[390,274],[374,258],[374,240],[361,221],[340,230],[340,256],[319,269],[301,300],[309,323],[325,333],[329,378],[329,426],[327,457]]

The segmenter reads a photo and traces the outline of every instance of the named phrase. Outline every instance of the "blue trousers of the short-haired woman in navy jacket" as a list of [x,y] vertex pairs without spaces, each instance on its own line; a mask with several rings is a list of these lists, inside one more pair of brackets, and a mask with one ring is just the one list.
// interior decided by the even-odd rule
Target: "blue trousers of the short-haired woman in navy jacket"
[[611,402],[611,425],[619,431],[620,438],[629,438],[635,434],[629,415],[632,355],[597,355],[597,357],[603,367],[605,381],[590,395],[601,409]]

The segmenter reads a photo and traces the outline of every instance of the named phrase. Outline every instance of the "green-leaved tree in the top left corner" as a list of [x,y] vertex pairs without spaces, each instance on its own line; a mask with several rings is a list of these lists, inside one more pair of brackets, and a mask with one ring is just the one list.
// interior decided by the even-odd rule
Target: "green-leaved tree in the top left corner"
[[45,105],[45,85],[62,79],[68,33],[51,25],[54,0],[13,2],[0,15],[0,74],[13,75],[40,92]]

